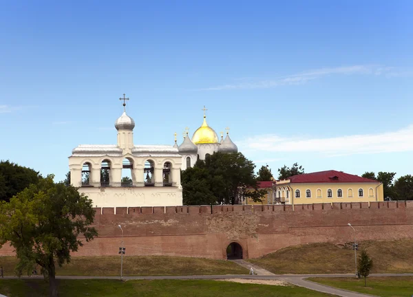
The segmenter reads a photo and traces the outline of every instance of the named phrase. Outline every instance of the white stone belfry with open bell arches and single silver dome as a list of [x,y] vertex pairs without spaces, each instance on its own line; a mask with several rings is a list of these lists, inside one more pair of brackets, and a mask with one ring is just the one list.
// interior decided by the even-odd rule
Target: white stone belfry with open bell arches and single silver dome
[[[80,145],[69,157],[70,181],[96,207],[182,206],[182,156],[173,146],[134,145],[134,120],[116,121],[117,145]],[[128,177],[123,179],[123,170]]]

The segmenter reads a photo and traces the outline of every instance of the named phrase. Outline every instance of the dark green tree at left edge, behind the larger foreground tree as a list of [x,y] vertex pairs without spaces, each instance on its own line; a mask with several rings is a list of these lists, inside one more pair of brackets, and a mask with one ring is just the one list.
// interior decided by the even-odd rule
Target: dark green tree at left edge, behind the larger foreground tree
[[10,199],[27,188],[30,184],[39,182],[39,172],[19,166],[10,161],[0,162],[0,201]]

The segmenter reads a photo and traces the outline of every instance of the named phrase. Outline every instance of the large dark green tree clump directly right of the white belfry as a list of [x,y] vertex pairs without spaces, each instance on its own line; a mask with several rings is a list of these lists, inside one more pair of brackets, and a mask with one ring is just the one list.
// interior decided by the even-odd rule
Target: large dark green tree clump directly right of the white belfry
[[235,204],[241,197],[261,201],[266,190],[258,189],[254,169],[242,153],[214,153],[198,160],[182,172],[184,203]]

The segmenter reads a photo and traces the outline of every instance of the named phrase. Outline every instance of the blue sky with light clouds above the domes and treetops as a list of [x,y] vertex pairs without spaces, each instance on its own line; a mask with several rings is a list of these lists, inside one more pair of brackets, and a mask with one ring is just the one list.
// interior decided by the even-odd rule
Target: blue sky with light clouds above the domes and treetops
[[[63,179],[78,144],[207,120],[273,172],[412,174],[412,1],[0,1],[0,159]],[[182,137],[179,138],[180,140]]]

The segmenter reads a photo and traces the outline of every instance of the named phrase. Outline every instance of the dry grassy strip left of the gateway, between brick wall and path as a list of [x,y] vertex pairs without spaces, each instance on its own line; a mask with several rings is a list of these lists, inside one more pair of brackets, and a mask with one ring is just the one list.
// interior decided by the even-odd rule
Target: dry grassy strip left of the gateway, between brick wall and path
[[[14,275],[17,259],[0,257],[4,275]],[[73,257],[68,265],[58,268],[57,275],[118,276],[120,256]],[[124,276],[248,274],[248,270],[233,262],[203,258],[172,256],[124,256]]]

